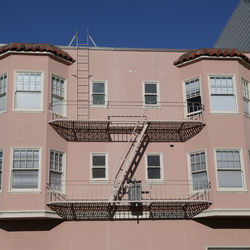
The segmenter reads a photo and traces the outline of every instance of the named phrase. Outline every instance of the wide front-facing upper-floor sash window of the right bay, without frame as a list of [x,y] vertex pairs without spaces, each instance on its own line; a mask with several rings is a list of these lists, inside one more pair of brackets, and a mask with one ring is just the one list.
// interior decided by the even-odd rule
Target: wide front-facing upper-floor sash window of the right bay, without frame
[[235,112],[236,97],[232,76],[210,76],[212,112]]

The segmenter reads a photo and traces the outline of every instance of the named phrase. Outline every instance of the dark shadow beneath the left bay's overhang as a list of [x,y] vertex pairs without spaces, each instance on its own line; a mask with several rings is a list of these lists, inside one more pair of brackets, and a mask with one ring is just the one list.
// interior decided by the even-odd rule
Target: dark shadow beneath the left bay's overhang
[[34,220],[3,220],[0,221],[0,229],[5,231],[15,232],[15,231],[50,231],[63,220],[56,219],[34,219]]

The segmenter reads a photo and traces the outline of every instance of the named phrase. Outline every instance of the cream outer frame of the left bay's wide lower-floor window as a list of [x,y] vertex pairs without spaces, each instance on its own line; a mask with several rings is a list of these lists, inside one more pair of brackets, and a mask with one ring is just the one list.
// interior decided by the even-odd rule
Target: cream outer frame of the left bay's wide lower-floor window
[[[39,163],[38,163],[38,183],[37,188],[12,188],[12,172],[13,168],[13,160],[14,160],[14,150],[38,150],[39,151]],[[10,173],[9,173],[9,192],[12,193],[37,193],[41,191],[41,166],[42,166],[42,147],[11,147],[10,148]]]

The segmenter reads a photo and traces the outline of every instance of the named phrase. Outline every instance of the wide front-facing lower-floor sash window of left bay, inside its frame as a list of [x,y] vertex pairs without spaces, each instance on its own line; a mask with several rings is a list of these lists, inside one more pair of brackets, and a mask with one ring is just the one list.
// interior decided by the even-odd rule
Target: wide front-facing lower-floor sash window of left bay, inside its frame
[[14,149],[12,189],[37,189],[39,176],[39,149]]

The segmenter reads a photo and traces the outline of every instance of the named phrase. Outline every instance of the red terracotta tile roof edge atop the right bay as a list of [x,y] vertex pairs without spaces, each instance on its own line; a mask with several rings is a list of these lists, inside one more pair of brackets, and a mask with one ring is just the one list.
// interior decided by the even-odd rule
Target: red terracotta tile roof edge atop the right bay
[[217,48],[202,48],[198,50],[189,51],[182,56],[180,56],[175,62],[174,65],[179,65],[188,61],[191,61],[195,58],[199,58],[201,56],[212,56],[212,57],[240,57],[247,63],[250,63],[250,59],[244,55],[241,51],[237,49],[217,49]]

